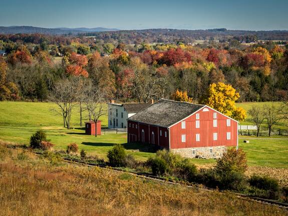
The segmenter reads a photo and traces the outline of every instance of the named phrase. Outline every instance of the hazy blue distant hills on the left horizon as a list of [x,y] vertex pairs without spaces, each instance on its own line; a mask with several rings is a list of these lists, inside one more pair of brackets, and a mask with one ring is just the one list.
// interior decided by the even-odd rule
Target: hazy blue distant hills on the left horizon
[[40,28],[33,26],[10,26],[10,27],[0,27],[0,34],[49,34],[49,35],[63,35],[63,34],[78,34],[78,33],[88,33],[88,32],[109,32],[118,31],[118,29],[107,29],[107,28]]

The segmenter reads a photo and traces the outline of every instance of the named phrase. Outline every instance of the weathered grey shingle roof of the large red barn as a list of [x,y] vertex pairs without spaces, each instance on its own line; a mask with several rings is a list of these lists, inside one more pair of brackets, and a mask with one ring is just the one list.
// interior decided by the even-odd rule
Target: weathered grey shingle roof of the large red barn
[[170,127],[204,106],[205,105],[161,99],[131,116],[128,120],[161,127]]

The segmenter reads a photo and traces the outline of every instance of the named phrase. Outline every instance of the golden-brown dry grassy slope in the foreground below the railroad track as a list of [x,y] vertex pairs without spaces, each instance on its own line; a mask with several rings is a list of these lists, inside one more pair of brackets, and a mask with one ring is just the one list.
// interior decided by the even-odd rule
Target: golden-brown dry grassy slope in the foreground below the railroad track
[[228,192],[143,180],[1,145],[0,173],[0,215],[286,215]]

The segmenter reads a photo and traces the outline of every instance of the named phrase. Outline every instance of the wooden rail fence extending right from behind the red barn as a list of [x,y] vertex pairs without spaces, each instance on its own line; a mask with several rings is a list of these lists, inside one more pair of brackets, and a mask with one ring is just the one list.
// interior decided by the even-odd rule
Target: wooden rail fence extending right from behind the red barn
[[[252,125],[239,125],[238,134],[245,136],[256,136],[257,128]],[[249,126],[249,127],[247,127]],[[288,136],[288,130],[281,128],[271,128],[270,132],[271,136]],[[268,127],[260,127],[259,136],[269,136],[269,128]]]

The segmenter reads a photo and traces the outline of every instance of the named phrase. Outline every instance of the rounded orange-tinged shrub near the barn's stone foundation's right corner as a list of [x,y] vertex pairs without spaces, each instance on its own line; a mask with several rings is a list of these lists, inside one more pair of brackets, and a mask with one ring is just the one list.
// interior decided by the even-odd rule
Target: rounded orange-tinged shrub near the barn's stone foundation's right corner
[[216,172],[240,172],[244,173],[247,170],[246,154],[242,149],[228,148],[223,156],[217,159]]

